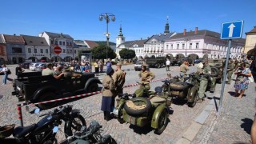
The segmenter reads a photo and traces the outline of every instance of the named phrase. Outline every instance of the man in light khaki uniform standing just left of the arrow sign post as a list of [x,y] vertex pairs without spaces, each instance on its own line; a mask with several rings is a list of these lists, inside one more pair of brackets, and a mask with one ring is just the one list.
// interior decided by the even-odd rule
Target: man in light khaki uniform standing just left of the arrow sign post
[[207,84],[208,84],[208,77],[211,74],[211,68],[208,64],[207,59],[203,59],[202,63],[203,63],[202,69],[198,70],[198,73],[202,74],[202,78],[200,81],[200,87],[198,90],[198,96],[199,96],[198,102],[199,103],[204,100],[204,96],[205,96],[205,92],[206,92],[206,88],[207,88]]

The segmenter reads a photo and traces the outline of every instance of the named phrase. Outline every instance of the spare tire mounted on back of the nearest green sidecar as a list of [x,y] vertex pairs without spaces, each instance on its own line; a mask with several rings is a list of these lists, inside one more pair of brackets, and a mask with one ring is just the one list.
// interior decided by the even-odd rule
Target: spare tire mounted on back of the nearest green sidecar
[[151,108],[151,102],[148,98],[143,98],[143,97],[137,97],[137,98],[131,98],[129,101],[134,102],[134,104],[138,104],[138,102],[145,103],[146,107],[140,110],[134,110],[127,106],[127,102],[125,103],[124,110],[126,110],[127,114],[130,114],[131,116],[138,116],[140,114],[144,114]]

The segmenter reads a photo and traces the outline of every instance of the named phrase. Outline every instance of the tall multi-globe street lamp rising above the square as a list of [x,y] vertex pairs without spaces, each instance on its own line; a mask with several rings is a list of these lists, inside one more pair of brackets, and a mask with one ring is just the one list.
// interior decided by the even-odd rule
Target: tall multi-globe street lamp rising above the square
[[114,14],[110,13],[102,13],[99,15],[99,20],[102,21],[103,18],[106,20],[106,58],[107,58],[107,47],[109,46],[109,40],[110,40],[110,33],[109,33],[109,22],[110,22],[110,17],[111,20],[114,22],[115,21],[115,16]]

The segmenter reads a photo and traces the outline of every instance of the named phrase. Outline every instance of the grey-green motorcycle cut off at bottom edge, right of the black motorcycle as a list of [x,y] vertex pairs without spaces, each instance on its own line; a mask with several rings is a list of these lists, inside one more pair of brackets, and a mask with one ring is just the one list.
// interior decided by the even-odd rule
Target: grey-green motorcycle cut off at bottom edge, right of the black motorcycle
[[114,138],[112,138],[109,134],[102,136],[101,128],[98,122],[92,121],[90,122],[90,126],[86,128],[86,126],[80,127],[81,129],[74,132],[72,136],[67,138],[67,142],[70,144],[84,144],[84,143],[97,143],[97,144],[115,144]]

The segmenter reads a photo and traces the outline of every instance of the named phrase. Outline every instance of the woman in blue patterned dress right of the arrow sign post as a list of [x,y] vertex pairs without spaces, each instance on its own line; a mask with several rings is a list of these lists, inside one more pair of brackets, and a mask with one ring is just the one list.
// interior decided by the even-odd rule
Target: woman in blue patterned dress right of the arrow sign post
[[238,96],[238,98],[242,98],[246,89],[248,89],[251,71],[249,68],[246,68],[246,63],[242,63],[240,69],[238,69],[234,74],[238,74],[236,82],[234,84],[235,96]]

